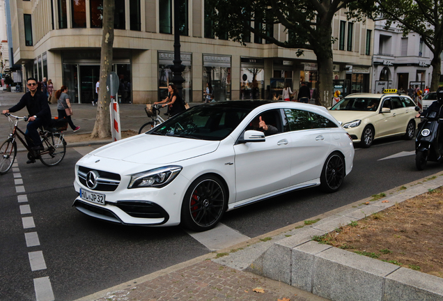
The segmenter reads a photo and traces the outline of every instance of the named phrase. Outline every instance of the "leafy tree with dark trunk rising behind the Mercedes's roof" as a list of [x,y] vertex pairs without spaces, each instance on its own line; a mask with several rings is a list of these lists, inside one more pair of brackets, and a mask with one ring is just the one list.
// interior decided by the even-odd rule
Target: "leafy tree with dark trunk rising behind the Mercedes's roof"
[[[356,0],[207,0],[205,11],[215,12],[215,35],[242,43],[251,33],[279,47],[297,49],[297,56],[309,49],[317,56],[318,103],[331,105],[333,97],[332,19],[341,8]],[[206,6],[210,6],[207,8]],[[273,24],[282,24],[288,40],[272,36]]]

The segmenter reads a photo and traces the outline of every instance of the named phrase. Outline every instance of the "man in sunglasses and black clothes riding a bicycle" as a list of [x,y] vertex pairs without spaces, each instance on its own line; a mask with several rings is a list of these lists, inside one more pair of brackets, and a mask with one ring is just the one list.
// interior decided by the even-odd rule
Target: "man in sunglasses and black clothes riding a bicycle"
[[[29,118],[26,126],[26,135],[28,135],[33,142],[33,150],[42,151],[43,145],[38,134],[38,128],[42,125],[47,125],[51,121],[51,109],[47,103],[47,95],[42,91],[37,91],[37,80],[33,77],[27,79],[27,86],[29,92],[25,93],[14,107],[3,110],[3,114],[20,111],[24,107],[28,109]],[[29,141],[30,142],[30,141]],[[35,160],[28,160],[26,163],[34,163]]]

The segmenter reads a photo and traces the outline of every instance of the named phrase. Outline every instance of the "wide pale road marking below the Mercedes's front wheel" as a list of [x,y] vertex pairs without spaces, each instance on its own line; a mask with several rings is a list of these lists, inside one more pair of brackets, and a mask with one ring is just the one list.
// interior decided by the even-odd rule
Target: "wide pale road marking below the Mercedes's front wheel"
[[231,245],[249,240],[249,237],[224,224],[218,224],[214,229],[204,232],[187,231],[187,233],[211,251],[231,247]]

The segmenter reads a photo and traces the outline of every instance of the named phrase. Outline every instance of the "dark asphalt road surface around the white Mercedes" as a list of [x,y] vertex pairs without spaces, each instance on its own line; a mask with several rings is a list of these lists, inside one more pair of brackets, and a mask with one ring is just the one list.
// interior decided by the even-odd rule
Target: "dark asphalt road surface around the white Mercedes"
[[[378,141],[356,150],[354,169],[339,192],[292,192],[233,210],[221,222],[253,238],[442,170],[428,163],[417,171],[414,155],[380,160],[411,151],[414,141]],[[29,213],[21,211],[26,208],[17,200],[16,186],[21,184],[15,183],[14,172],[0,176],[0,300],[35,300],[33,279],[45,277],[56,300],[75,300],[210,252],[180,226],[119,226],[78,213],[71,205],[76,196],[74,165],[80,157],[68,148],[63,162],[48,168],[40,162],[25,164],[26,153],[18,153],[15,173],[22,176]],[[33,217],[35,228],[24,229],[22,217]],[[40,243],[27,247],[25,233],[32,232],[38,233]],[[32,271],[36,265],[29,253],[40,251],[46,268]]]

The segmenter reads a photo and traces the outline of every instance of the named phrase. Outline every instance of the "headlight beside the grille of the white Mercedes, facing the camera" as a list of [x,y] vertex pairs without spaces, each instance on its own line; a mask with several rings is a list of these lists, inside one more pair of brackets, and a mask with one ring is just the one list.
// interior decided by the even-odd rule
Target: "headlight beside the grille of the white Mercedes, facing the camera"
[[182,169],[183,167],[171,165],[134,173],[127,188],[164,187],[171,183]]

